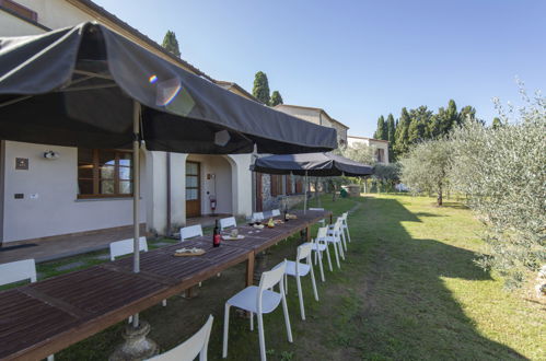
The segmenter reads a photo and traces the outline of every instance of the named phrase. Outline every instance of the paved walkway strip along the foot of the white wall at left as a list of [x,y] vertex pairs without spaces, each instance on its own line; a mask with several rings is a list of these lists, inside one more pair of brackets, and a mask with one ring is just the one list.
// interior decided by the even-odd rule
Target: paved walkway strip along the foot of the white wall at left
[[[144,228],[141,228],[141,234]],[[132,237],[132,228],[88,235],[66,235],[54,240],[13,242],[0,247],[0,264],[34,258],[37,263],[108,248],[114,241]],[[18,247],[21,246],[21,247]]]

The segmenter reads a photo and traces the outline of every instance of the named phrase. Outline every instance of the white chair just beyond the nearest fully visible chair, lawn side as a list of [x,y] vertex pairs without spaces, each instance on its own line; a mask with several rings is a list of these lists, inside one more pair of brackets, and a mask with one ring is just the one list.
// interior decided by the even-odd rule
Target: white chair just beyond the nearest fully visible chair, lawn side
[[[295,284],[298,286],[298,298],[300,299],[300,312],[301,319],[305,321],[305,306],[303,304],[303,292],[301,289],[301,277],[311,275],[311,282],[313,284],[313,293],[315,294],[315,300],[318,301],[318,293],[316,292],[315,273],[313,272],[313,263],[311,261],[311,252],[313,251],[312,243],[304,243],[298,247],[298,253],[295,261],[286,260],[287,270],[284,271],[284,291],[288,293],[288,276],[295,278]],[[305,259],[305,264],[300,260]],[[277,267],[280,267],[280,264]]]

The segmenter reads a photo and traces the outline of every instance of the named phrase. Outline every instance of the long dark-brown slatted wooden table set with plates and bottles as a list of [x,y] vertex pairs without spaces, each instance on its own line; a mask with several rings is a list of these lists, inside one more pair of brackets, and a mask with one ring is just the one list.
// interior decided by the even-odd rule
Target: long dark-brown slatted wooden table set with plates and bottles
[[255,255],[288,236],[329,218],[328,211],[298,212],[297,220],[275,229],[239,226],[241,241],[212,247],[210,236],[184,242],[205,248],[195,257],[175,257],[181,244],[141,253],[139,273],[132,257],[73,271],[0,292],[0,359],[43,359],[130,315],[242,261],[253,283]]

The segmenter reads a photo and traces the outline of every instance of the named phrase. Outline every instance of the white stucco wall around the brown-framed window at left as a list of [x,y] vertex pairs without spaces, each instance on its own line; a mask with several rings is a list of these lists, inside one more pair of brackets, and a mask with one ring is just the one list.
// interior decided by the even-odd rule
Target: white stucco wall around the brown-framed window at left
[[[59,159],[44,159],[43,153],[48,150],[58,152]],[[77,148],[5,141],[2,156],[3,242],[132,224],[132,198],[77,198]],[[15,170],[15,158],[27,158],[28,171]],[[15,199],[15,194],[24,194],[24,198]],[[143,207],[141,222],[146,222]]]

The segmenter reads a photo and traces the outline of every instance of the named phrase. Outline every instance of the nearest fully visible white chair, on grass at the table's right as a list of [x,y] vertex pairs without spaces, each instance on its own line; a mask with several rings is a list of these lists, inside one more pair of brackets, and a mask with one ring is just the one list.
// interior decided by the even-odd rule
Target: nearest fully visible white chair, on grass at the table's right
[[[254,330],[254,314],[258,318],[259,354],[263,361],[266,358],[266,341],[264,336],[264,321],[262,315],[270,313],[282,302],[284,323],[287,325],[288,341],[292,342],[292,330],[288,315],[287,299],[284,293],[284,271],[287,263],[280,264],[277,268],[262,273],[259,286],[249,286],[233,295],[225,302],[223,322],[223,349],[222,358],[228,357],[228,334],[230,326],[230,307],[239,307],[251,313],[251,330]],[[272,291],[274,286],[279,284],[280,293]]]

